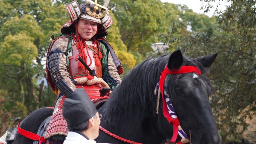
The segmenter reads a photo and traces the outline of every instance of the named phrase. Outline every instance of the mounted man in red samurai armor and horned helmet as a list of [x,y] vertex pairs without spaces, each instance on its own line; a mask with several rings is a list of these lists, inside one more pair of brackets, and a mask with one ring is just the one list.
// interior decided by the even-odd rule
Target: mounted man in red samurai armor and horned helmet
[[44,136],[46,144],[62,144],[67,136],[62,103],[75,89],[83,88],[93,99],[110,95],[122,81],[119,75],[123,72],[121,62],[105,37],[112,23],[108,3],[109,0],[105,0],[101,6],[97,0],[96,3],[85,0],[79,6],[74,0],[66,7],[70,21],[61,27],[61,37],[52,40],[47,52],[47,81],[57,95],[57,101]]

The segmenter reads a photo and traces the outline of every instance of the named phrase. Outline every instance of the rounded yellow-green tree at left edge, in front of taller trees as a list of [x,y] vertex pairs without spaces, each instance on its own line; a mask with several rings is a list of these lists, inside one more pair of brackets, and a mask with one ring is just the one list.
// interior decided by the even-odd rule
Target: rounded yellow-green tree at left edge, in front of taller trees
[[[20,32],[17,35],[6,36],[4,40],[0,43],[0,60],[3,63],[0,66],[0,97],[3,98],[0,102],[1,130],[6,130],[7,126],[14,126],[17,123],[15,119],[24,118],[27,112],[25,104],[27,106],[38,104],[34,93],[25,94],[31,84],[23,83],[24,78],[30,77],[33,73],[35,63],[32,63],[32,60],[38,54],[33,37]],[[33,89],[30,90],[35,92]]]

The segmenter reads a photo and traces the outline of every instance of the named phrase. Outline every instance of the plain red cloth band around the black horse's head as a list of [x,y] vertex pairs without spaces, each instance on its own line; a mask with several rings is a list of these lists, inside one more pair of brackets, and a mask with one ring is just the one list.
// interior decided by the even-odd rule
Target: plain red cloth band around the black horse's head
[[175,142],[177,139],[178,130],[179,130],[178,126],[180,125],[180,121],[178,120],[178,118],[173,119],[168,112],[166,101],[163,96],[163,85],[164,85],[165,77],[166,75],[169,75],[169,74],[176,75],[176,74],[184,74],[184,73],[190,73],[190,72],[195,72],[201,75],[201,71],[196,66],[181,66],[180,69],[169,70],[166,65],[160,77],[159,87],[160,87],[160,91],[162,93],[162,98],[163,98],[163,115],[164,117],[167,118],[169,123],[173,125],[173,135],[172,135],[171,142]]

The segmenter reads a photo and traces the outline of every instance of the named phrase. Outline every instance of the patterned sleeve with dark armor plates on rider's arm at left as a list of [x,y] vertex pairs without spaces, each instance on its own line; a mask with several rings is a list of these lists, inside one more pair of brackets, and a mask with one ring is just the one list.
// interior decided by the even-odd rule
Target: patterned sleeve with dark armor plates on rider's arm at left
[[67,51],[69,38],[62,37],[55,41],[48,56],[48,66],[55,86],[68,98],[76,89],[67,69]]

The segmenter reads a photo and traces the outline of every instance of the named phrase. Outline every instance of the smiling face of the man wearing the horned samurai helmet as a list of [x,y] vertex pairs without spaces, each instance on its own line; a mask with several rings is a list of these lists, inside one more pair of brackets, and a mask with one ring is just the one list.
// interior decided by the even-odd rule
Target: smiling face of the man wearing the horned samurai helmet
[[90,40],[97,32],[98,23],[80,19],[77,25],[79,35],[85,39]]

